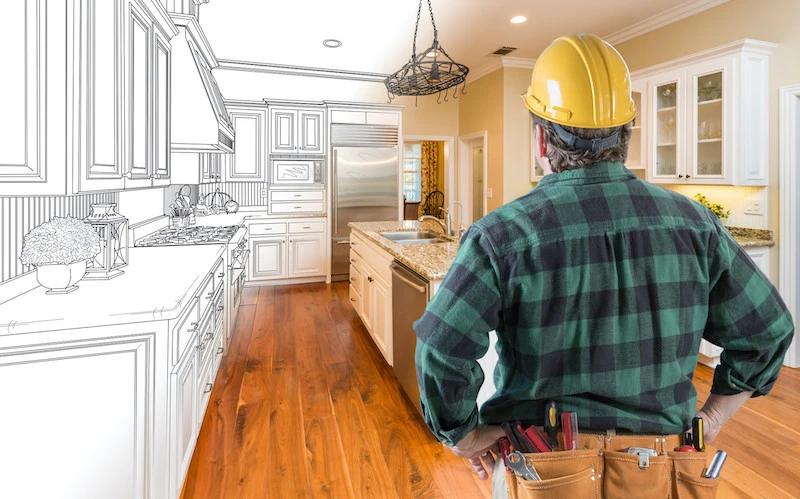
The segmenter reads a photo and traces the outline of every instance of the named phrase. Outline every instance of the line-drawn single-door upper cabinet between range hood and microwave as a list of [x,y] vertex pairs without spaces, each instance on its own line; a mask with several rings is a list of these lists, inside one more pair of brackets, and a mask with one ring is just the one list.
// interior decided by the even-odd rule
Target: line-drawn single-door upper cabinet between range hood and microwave
[[226,103],[236,133],[227,155],[226,182],[267,181],[267,108],[263,103]]

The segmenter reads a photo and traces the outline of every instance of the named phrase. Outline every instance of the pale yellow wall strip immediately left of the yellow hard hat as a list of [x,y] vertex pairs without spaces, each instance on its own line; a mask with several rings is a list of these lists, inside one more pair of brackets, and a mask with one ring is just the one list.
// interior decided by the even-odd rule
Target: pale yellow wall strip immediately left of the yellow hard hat
[[503,202],[523,196],[531,183],[530,112],[520,98],[531,69],[503,68]]

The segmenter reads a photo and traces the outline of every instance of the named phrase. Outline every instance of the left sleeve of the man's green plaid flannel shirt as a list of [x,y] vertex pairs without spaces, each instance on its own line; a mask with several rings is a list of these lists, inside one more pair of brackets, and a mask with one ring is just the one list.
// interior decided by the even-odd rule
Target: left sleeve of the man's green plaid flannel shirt
[[425,423],[451,446],[478,424],[476,399],[484,373],[477,359],[489,349],[489,332],[500,327],[501,293],[493,255],[489,238],[479,227],[471,227],[444,281],[414,323]]

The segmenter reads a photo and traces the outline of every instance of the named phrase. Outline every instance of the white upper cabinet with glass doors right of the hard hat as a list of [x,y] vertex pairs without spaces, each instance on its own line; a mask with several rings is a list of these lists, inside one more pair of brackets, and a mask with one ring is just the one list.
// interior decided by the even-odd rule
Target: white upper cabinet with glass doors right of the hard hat
[[[628,163],[647,168],[654,183],[767,185],[768,58],[776,46],[742,40],[632,73],[641,128]],[[634,150],[637,140],[644,145]]]

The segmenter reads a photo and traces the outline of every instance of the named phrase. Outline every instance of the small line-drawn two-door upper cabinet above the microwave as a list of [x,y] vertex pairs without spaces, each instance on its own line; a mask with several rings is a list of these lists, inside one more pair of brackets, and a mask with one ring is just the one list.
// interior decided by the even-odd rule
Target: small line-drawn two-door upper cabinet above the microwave
[[325,110],[322,108],[269,108],[271,154],[324,154]]

